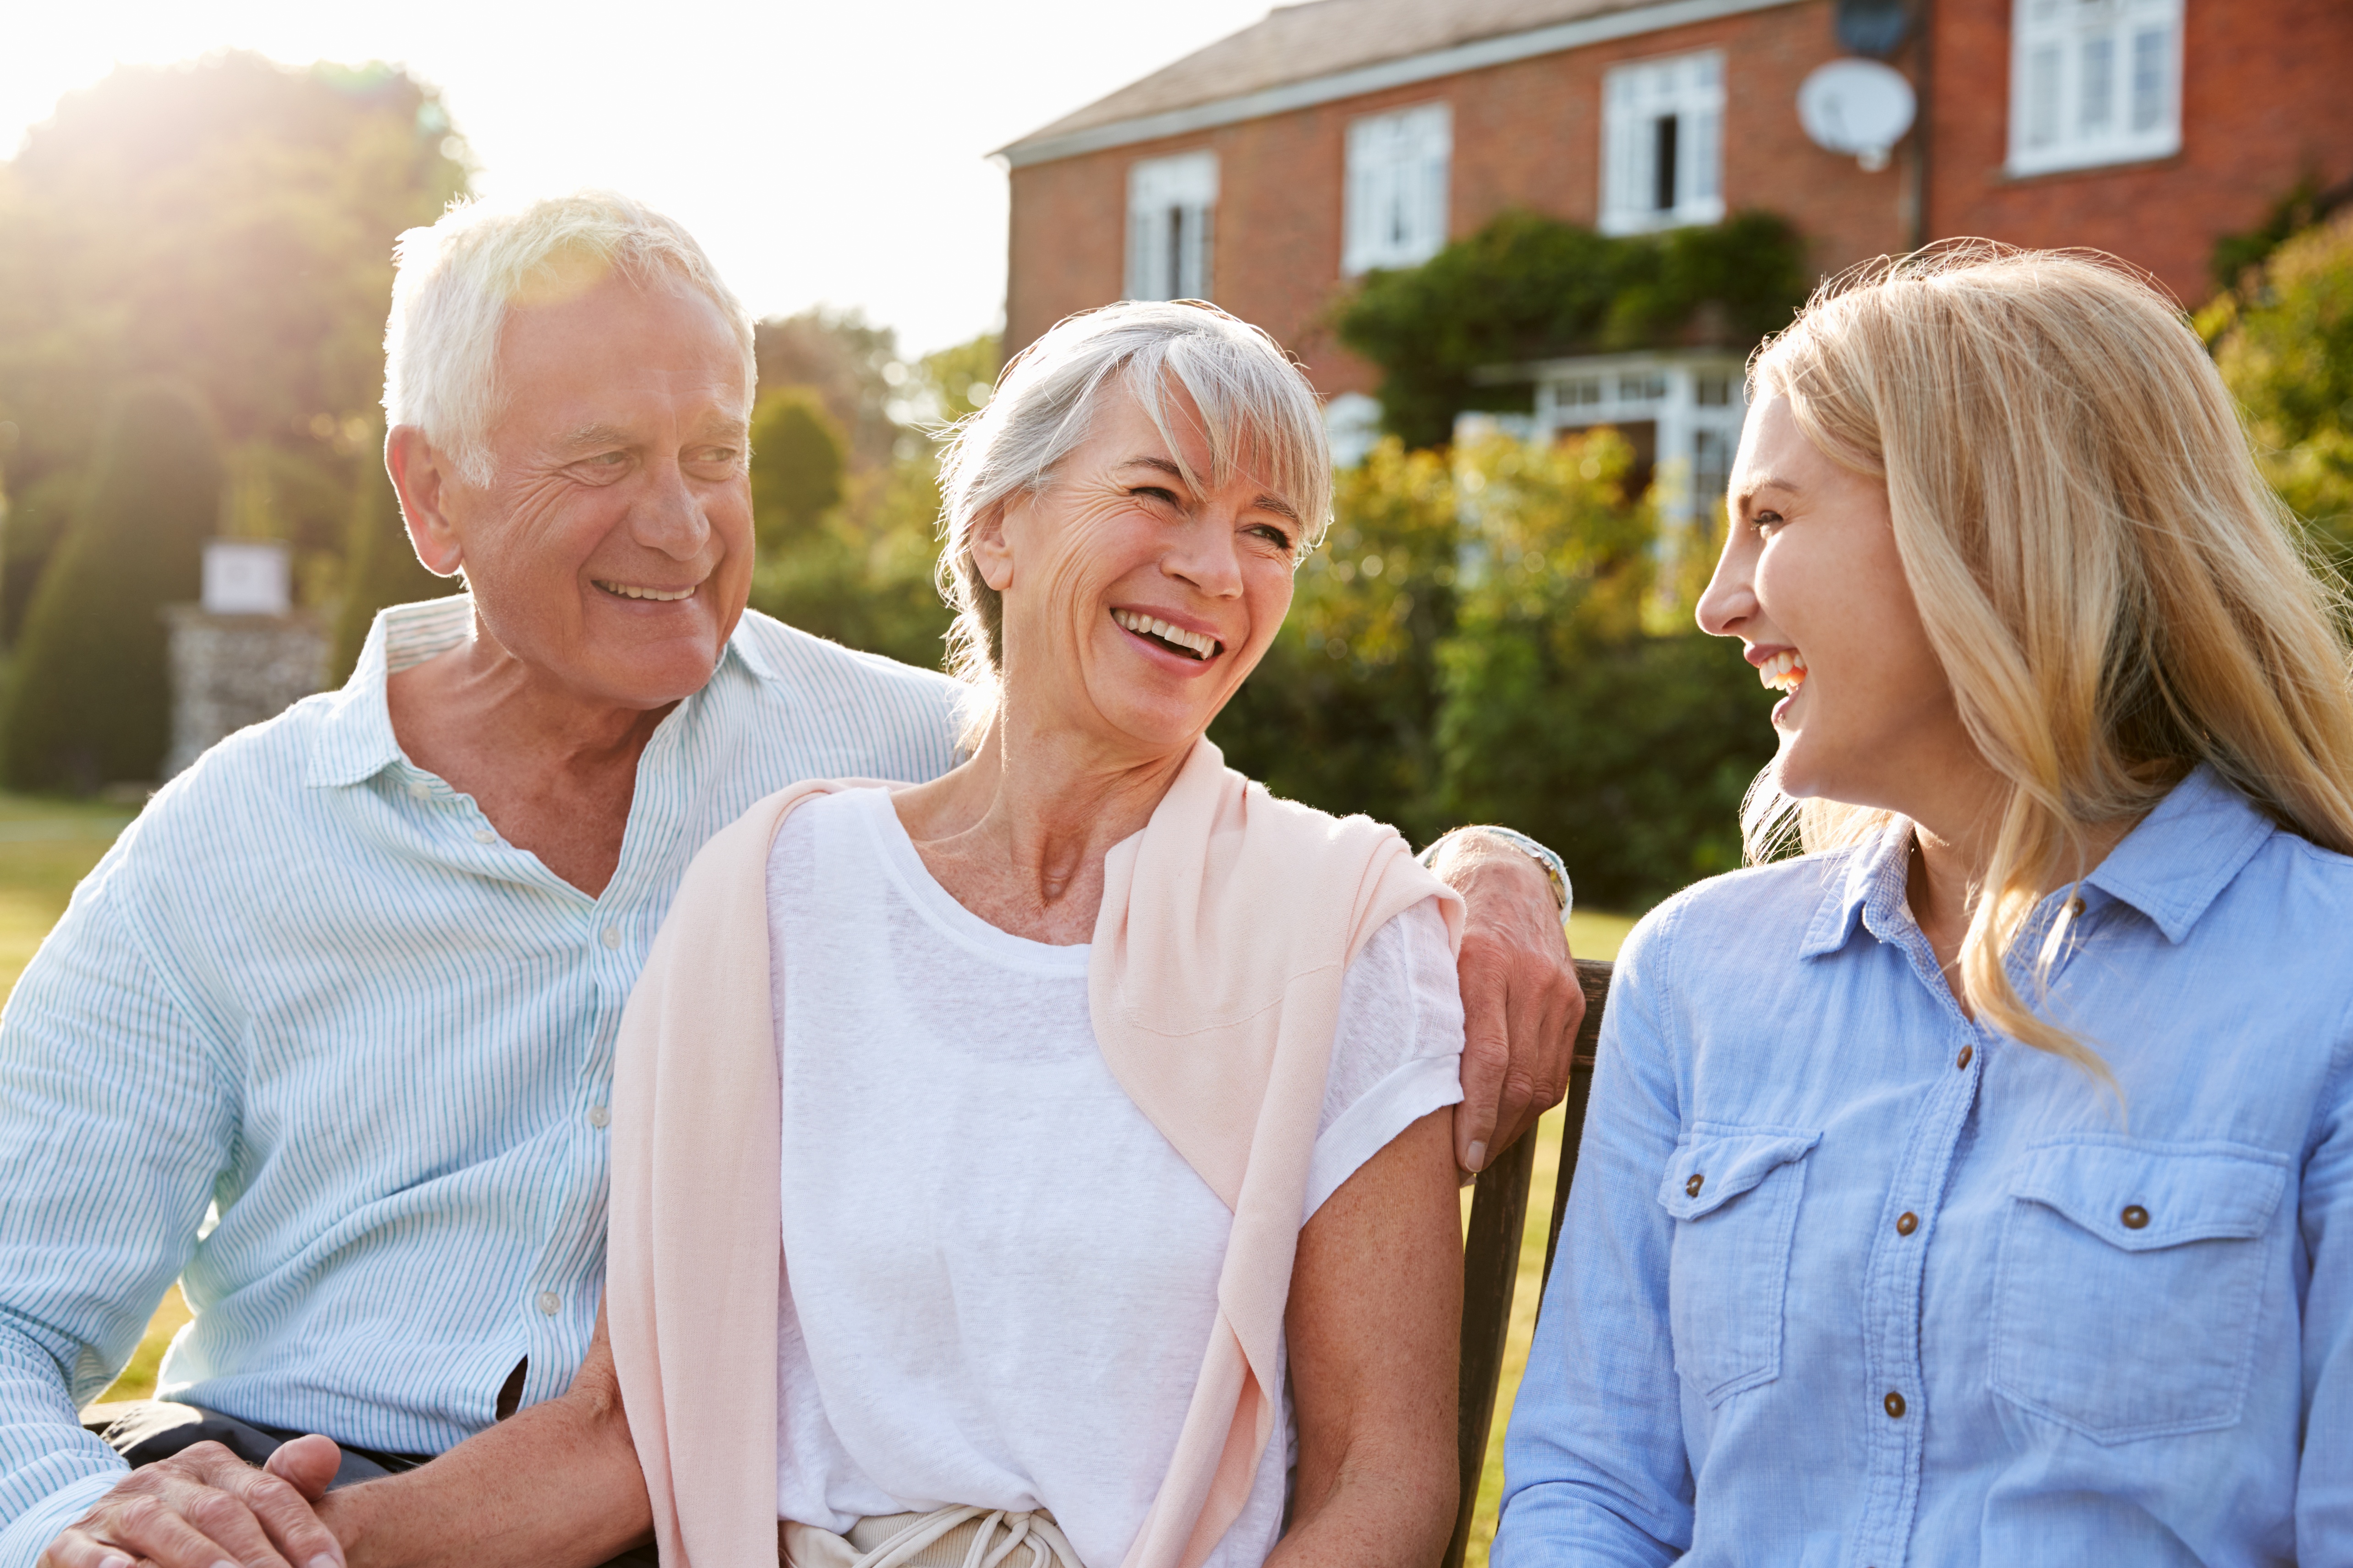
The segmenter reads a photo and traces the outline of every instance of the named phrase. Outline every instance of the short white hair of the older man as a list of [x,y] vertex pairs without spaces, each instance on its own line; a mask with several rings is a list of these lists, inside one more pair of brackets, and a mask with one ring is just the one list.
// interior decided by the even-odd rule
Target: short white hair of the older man
[[504,407],[499,331],[534,287],[602,263],[640,289],[692,289],[720,308],[744,348],[744,402],[758,369],[751,315],[675,219],[612,190],[520,207],[456,202],[393,244],[384,324],[384,418],[416,425],[473,484],[489,484],[489,428]]

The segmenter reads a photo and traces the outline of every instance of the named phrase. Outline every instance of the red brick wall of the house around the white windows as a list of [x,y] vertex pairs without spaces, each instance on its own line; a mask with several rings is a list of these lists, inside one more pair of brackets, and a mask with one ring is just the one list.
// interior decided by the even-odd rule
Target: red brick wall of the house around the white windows
[[[2353,2],[2188,0],[2184,150],[2151,165],[2002,176],[2012,0],[1939,0],[1929,94],[1929,235],[2092,244],[2151,268],[2184,301],[2209,294],[2207,256],[2297,181],[2353,176]],[[1365,94],[1012,172],[1007,343],[1120,296],[1127,165],[1219,155],[1214,296],[1308,362],[1325,395],[1377,371],[1322,324],[1346,292],[1341,176],[1348,120],[1445,99],[1454,108],[1452,233],[1520,205],[1591,223],[1600,205],[1602,73],[1628,59],[1722,49],[1725,202],[1791,219],[1814,266],[1904,249],[1904,167],[1866,174],[1798,125],[1798,82],[1840,54],[1828,0],[1727,16],[1489,71]],[[1911,52],[1906,52],[1911,54]]]

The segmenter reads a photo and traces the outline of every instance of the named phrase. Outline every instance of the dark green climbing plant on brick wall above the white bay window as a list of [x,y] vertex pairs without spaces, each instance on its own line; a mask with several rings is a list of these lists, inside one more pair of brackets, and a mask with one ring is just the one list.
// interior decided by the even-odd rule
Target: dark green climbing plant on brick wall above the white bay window
[[1619,348],[1746,348],[1788,324],[1812,280],[1805,240],[1765,212],[1624,237],[1506,212],[1417,268],[1367,275],[1334,327],[1381,367],[1381,425],[1438,447],[1464,409],[1527,407],[1527,383],[1480,371]]

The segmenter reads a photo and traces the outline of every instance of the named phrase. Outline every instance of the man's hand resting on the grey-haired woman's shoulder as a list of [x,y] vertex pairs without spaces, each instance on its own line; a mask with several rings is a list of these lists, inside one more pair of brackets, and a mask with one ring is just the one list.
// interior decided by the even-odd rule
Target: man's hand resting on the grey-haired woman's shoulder
[[1449,837],[1433,867],[1464,896],[1464,1103],[1454,1164],[1485,1171],[1569,1091],[1586,992],[1569,961],[1553,879],[1475,827]]

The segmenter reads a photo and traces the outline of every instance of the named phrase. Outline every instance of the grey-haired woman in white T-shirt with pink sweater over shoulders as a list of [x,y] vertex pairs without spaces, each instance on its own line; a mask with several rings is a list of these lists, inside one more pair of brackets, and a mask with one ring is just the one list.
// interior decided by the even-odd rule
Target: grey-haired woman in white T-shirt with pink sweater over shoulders
[[473,1563],[1442,1549],[1459,898],[1205,741],[1329,508],[1315,397],[1221,310],[1113,306],[946,489],[972,759],[704,849],[621,1030],[609,1340],[329,1495],[355,1566],[419,1519]]

